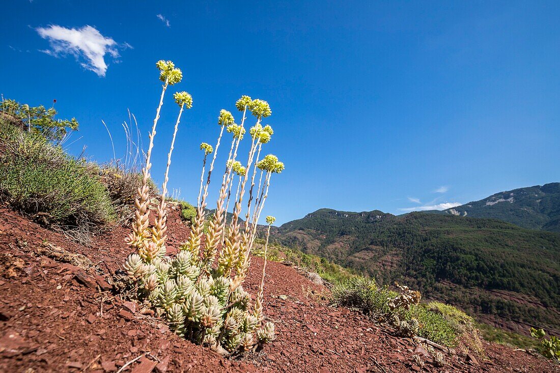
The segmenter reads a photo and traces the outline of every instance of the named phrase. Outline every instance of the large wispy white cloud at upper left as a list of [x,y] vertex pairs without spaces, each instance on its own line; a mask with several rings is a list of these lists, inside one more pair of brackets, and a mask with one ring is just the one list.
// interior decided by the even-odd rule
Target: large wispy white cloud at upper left
[[82,59],[80,64],[99,76],[105,76],[107,64],[105,54],[113,58],[119,57],[118,48],[132,48],[125,43],[119,45],[112,38],[101,35],[95,27],[83,26],[81,29],[67,29],[66,27],[51,25],[36,29],[41,38],[47,39],[50,49],[43,50],[54,57],[72,54],[76,59]]

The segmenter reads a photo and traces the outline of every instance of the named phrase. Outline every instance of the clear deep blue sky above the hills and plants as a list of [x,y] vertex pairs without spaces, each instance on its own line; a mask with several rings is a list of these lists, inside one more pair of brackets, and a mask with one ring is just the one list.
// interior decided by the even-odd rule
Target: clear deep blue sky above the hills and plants
[[[7,1],[0,92],[57,99],[60,118],[80,122],[68,151],[104,162],[101,120],[118,154],[127,109],[147,143],[155,62],[170,59],[184,80],[162,109],[152,176],[161,183],[171,94],[186,90],[170,178],[182,198],[196,201],[198,145],[215,143],[218,112],[250,95],[269,102],[265,152],[286,164],[263,214],[398,214],[560,181],[559,17],[557,1]],[[76,32],[81,49],[55,40]]]

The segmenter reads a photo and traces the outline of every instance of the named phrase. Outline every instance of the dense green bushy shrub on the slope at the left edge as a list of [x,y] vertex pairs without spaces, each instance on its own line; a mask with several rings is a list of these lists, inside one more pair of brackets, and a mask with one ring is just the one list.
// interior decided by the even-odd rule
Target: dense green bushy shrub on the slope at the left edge
[[76,160],[42,133],[0,120],[0,198],[35,221],[86,243],[115,221],[99,167]]

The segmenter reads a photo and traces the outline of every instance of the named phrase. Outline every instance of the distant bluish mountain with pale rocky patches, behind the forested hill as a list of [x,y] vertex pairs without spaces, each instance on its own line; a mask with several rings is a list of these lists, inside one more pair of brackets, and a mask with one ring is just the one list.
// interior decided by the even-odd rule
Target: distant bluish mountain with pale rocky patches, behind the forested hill
[[508,190],[444,211],[424,212],[494,218],[528,229],[560,232],[560,183]]

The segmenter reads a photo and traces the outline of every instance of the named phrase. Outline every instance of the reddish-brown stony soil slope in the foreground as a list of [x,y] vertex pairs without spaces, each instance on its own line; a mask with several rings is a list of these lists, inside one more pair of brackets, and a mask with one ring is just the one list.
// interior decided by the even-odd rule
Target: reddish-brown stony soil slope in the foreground
[[[152,214],[153,215],[153,214]],[[259,353],[227,359],[172,334],[159,320],[136,312],[103,280],[129,254],[129,232],[114,227],[86,247],[0,207],[0,371],[2,372],[410,372],[416,345],[397,338],[365,316],[334,309],[317,296],[328,292],[294,268],[267,265],[265,314],[276,324],[277,339]],[[170,210],[168,251],[186,239],[188,229]],[[78,267],[36,254],[43,241],[86,255],[100,270],[87,276]],[[255,294],[263,260],[253,258],[244,287]],[[95,275],[95,273],[93,273]],[[282,296],[282,297],[280,297]],[[487,360],[446,356],[422,371],[560,372],[543,357],[484,343]]]

